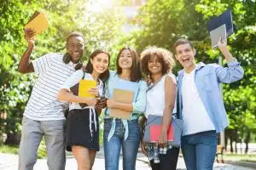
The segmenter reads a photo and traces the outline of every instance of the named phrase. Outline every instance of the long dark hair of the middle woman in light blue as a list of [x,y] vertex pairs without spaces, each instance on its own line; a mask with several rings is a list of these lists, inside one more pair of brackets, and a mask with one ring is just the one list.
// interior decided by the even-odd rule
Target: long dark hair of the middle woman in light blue
[[117,72],[117,74],[122,73],[122,68],[119,66],[119,58],[120,58],[121,53],[125,49],[128,49],[131,52],[131,58],[132,58],[130,81],[131,82],[138,82],[139,80],[142,79],[142,73],[141,73],[139,57],[138,57],[137,51],[134,48],[125,47],[125,48],[122,48],[119,51],[118,57],[116,59],[116,67],[117,67],[116,72]]

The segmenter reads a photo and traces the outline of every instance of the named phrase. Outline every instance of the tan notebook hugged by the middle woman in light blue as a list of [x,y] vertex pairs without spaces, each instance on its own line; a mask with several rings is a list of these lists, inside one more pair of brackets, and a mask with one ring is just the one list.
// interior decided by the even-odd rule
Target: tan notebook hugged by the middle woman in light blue
[[[118,88],[113,89],[113,99],[115,101],[125,103],[125,104],[131,104],[133,101],[133,96],[134,96],[134,93],[129,90],[123,90]],[[110,117],[130,120],[130,115],[131,115],[131,111],[109,109]]]

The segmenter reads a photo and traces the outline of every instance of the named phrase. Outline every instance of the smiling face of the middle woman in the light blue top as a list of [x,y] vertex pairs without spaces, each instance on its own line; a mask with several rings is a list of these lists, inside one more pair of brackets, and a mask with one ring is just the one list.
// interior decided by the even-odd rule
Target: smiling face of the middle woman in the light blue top
[[132,57],[129,49],[124,49],[119,55],[119,67],[121,69],[131,69]]

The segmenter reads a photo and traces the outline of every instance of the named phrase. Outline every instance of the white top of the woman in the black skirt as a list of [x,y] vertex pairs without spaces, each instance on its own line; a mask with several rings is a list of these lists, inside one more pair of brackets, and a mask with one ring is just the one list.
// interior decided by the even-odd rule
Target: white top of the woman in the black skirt
[[[93,80],[93,77],[89,73],[86,73],[86,72],[84,73],[84,71],[79,70],[79,71],[75,71],[71,77],[67,78],[66,82],[64,82],[61,88],[65,88],[70,91],[70,88],[72,88],[74,85],[79,83],[79,81],[83,78],[83,76],[84,76],[84,80]],[[99,93],[102,96],[103,82],[101,80],[97,88],[99,89]],[[83,109],[86,109],[86,108],[93,109],[94,107],[86,106]],[[79,103],[71,102],[69,104],[69,111],[73,109],[82,109],[82,107],[79,105]]]

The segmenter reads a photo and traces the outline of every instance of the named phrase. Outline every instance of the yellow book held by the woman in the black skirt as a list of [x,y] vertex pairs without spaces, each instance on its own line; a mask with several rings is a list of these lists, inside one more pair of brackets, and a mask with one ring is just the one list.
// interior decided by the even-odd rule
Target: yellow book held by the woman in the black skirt
[[96,81],[94,80],[80,80],[79,82],[79,97],[94,98],[95,95],[92,95],[88,92],[90,88],[96,88]]

